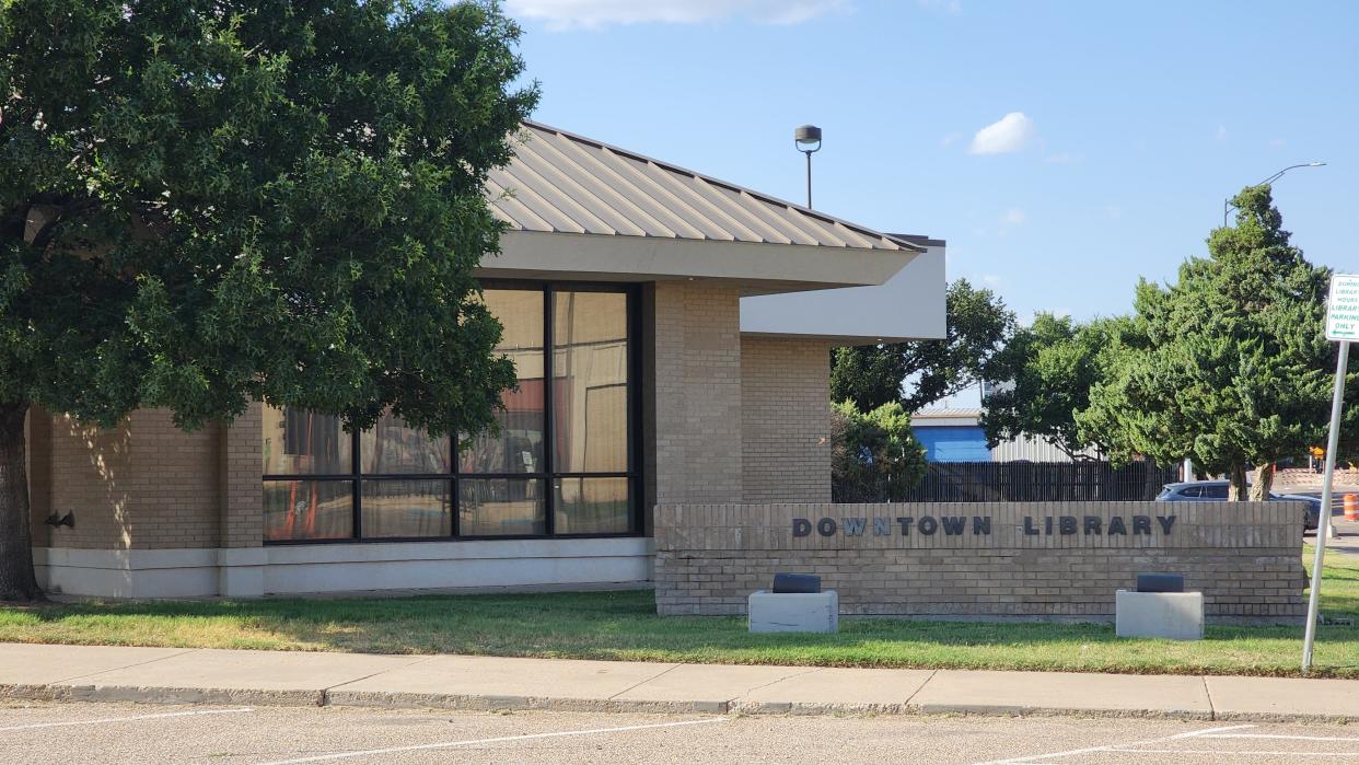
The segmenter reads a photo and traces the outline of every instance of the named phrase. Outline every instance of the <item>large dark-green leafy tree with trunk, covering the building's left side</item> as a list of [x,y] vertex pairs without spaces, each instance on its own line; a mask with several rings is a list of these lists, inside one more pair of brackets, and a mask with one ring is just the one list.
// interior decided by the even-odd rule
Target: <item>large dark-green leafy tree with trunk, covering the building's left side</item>
[[0,599],[39,597],[33,405],[492,423],[472,277],[537,99],[495,4],[0,3]]

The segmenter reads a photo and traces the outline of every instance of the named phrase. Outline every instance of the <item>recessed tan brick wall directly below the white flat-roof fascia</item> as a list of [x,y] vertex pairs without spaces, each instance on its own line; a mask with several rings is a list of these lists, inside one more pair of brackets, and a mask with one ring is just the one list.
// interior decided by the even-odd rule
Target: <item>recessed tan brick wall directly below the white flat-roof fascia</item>
[[826,342],[741,340],[745,501],[830,501],[829,401]]

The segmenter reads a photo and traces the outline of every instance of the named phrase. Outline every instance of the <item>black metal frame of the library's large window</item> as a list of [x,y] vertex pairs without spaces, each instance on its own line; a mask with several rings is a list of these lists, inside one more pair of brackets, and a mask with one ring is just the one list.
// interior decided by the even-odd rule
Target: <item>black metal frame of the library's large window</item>
[[[360,439],[363,433],[360,431],[353,431],[349,433],[351,439],[351,455],[349,455],[349,472],[348,473],[295,473],[295,474],[277,474],[265,473],[262,474],[261,491],[264,482],[280,482],[280,481],[349,481],[349,493],[352,504],[353,523],[351,535],[347,538],[330,538],[330,539],[264,539],[265,545],[352,545],[352,544],[389,544],[389,542],[485,542],[497,539],[599,539],[599,538],[625,538],[625,537],[643,537],[646,529],[646,512],[643,508],[643,476],[641,466],[644,465],[644,458],[641,454],[641,417],[643,417],[643,391],[641,389],[641,289],[639,284],[633,283],[594,283],[594,281],[534,281],[534,280],[482,280],[482,289],[519,289],[519,291],[538,291],[542,293],[544,300],[544,333],[542,333],[542,378],[544,378],[544,425],[542,425],[542,469],[533,473],[465,473],[462,470],[462,461],[458,452],[458,439],[448,439],[448,473],[363,473],[363,451]],[[556,310],[554,310],[554,295],[559,292],[612,292],[621,293],[625,296],[625,325],[628,333],[626,342],[626,412],[628,412],[628,432],[626,432],[626,457],[628,465],[625,470],[609,470],[609,472],[590,472],[590,470],[572,470],[572,472],[554,472],[554,438],[556,438],[556,395],[553,394],[553,357],[556,356],[554,341],[554,325],[556,325]],[[628,480],[628,530],[626,531],[607,531],[607,533],[584,533],[584,534],[565,534],[556,531],[556,496],[559,489],[559,480],[561,478],[626,478]],[[476,480],[523,480],[523,481],[538,481],[540,486],[545,493],[544,508],[546,512],[546,520],[544,524],[544,534],[499,534],[499,535],[463,535],[461,534],[461,520],[462,520],[462,481],[476,481]],[[447,537],[364,537],[363,535],[363,482],[364,481],[447,481],[450,484],[451,493],[451,535]],[[261,529],[262,534],[262,529]]]

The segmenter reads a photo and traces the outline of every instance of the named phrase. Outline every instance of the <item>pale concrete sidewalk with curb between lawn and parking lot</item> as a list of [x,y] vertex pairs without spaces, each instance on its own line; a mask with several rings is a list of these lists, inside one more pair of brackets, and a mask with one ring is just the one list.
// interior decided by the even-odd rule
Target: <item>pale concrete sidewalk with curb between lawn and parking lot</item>
[[1359,681],[0,644],[0,698],[1359,720]]

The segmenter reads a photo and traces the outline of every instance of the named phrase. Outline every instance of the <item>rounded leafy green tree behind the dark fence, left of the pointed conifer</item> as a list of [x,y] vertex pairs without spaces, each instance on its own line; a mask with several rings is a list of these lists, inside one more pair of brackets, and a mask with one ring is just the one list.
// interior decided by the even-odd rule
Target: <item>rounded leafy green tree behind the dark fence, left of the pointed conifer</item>
[[1099,433],[1076,424],[1076,412],[1090,406],[1090,389],[1104,379],[1131,323],[1127,318],[1078,323],[1038,314],[1017,330],[996,359],[1004,383],[987,398],[981,414],[991,446],[1029,436],[1072,458],[1090,448],[1105,451]]

